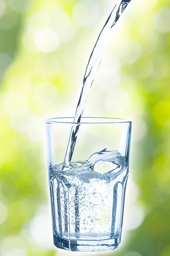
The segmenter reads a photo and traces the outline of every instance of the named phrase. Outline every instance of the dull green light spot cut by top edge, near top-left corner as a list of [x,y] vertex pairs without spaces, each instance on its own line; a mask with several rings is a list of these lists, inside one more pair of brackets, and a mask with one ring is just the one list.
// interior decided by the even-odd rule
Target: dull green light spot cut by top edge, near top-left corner
[[32,4],[32,0],[7,0],[7,2],[11,9],[13,9],[14,12],[17,13],[27,12]]

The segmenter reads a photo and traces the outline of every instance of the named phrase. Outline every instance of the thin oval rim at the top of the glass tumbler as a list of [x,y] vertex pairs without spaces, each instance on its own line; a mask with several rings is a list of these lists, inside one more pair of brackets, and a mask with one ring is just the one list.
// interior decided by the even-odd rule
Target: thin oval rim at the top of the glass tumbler
[[[105,119],[105,122],[69,122],[69,121],[63,121],[65,119],[74,119],[74,117],[53,117],[53,118],[48,118],[45,120],[46,124],[52,124],[52,123],[63,123],[63,124],[77,124],[77,125],[81,125],[81,124],[116,124],[116,123],[129,123],[131,124],[132,121],[130,121],[129,119],[124,119],[124,118],[114,118],[114,117],[93,117],[93,116],[82,116],[81,117],[81,121],[82,119]],[[106,119],[108,119],[109,121],[106,121]]]

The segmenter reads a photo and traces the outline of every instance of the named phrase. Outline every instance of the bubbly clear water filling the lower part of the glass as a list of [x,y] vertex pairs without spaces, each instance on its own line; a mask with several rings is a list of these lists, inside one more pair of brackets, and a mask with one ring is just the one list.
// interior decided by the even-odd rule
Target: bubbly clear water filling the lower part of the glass
[[[112,161],[106,161],[113,163],[114,169],[104,174],[91,168],[95,163],[99,168],[102,162],[98,153],[94,154],[96,160],[90,157],[81,167],[78,163],[65,171],[62,171],[62,164],[51,167],[51,182],[55,181],[57,187],[54,189],[53,205],[53,212],[58,215],[58,219],[55,217],[58,223],[56,232],[63,237],[83,239],[88,236],[93,239],[97,236],[110,239],[120,232],[127,167],[125,157],[118,151],[114,152],[110,158]],[[102,156],[102,159],[105,158]],[[108,166],[107,163],[105,166]]]

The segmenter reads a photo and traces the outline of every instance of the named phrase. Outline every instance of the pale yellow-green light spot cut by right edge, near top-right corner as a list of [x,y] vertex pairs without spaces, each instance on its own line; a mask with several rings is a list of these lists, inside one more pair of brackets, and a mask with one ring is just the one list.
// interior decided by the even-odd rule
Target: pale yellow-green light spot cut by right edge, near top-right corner
[[170,32],[170,8],[159,8],[153,15],[154,28],[161,33]]

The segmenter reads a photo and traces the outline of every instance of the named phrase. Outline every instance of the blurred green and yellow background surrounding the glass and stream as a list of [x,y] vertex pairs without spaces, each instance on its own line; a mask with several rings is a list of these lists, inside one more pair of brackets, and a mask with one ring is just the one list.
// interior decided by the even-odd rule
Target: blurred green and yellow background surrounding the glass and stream
[[[69,253],[53,246],[44,120],[74,115],[89,55],[113,5],[0,0],[0,256]],[[104,255],[170,256],[169,0],[132,0],[84,116],[133,121],[122,244]]]

